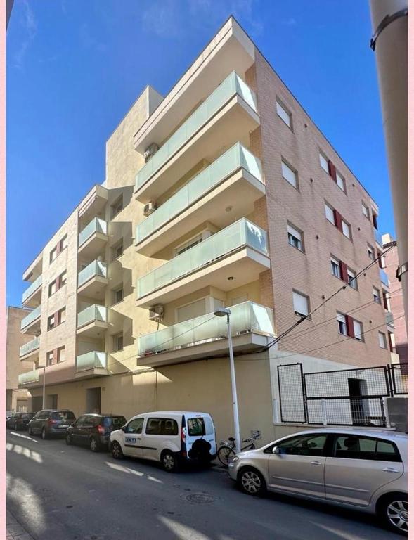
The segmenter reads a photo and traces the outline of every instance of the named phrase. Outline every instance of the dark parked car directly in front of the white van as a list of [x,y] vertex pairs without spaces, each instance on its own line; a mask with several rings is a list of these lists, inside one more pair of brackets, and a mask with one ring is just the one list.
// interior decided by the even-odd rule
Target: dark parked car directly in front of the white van
[[127,420],[115,414],[84,414],[66,432],[66,444],[84,444],[91,451],[108,449],[109,436],[119,430]]

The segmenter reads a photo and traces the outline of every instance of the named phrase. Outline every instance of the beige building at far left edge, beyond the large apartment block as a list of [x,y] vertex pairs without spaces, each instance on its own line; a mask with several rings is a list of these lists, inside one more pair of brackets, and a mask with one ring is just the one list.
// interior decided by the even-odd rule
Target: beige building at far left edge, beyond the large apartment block
[[27,389],[19,388],[19,375],[33,368],[24,359],[26,343],[30,336],[20,332],[20,323],[27,316],[27,309],[8,306],[6,316],[6,411],[27,412]]

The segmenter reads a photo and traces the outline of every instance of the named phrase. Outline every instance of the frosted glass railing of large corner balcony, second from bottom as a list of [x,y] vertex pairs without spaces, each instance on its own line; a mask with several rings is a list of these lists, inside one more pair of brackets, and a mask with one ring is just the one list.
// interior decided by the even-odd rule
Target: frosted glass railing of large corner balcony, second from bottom
[[268,255],[267,233],[244,217],[138,279],[138,298],[248,246]]

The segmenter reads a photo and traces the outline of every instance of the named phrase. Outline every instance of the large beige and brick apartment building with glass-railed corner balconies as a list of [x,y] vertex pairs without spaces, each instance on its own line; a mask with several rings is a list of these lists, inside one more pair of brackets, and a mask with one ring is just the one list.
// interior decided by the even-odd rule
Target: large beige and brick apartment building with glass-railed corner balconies
[[20,383],[39,406],[45,377],[46,405],[75,414],[208,411],[226,437],[214,310],[229,307],[242,436],[272,439],[278,364],[389,362],[386,278],[377,263],[355,278],[377,256],[378,213],[231,17],[167,96],[145,88],[106,143],[105,182],[25,271],[36,338]]

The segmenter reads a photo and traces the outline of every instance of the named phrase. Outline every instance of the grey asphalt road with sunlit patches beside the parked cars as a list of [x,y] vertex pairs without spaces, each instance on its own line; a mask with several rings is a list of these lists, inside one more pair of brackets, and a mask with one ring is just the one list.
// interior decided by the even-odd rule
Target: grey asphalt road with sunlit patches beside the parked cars
[[396,540],[370,515],[240,493],[219,467],[164,473],[63,439],[7,434],[8,510],[35,540]]

